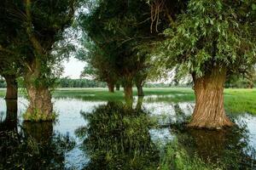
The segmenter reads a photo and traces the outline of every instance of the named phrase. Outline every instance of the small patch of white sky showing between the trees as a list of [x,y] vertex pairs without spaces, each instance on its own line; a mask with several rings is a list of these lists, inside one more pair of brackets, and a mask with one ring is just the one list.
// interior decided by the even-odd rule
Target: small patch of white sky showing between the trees
[[72,79],[78,79],[81,71],[84,70],[85,63],[71,57],[68,61],[64,62],[64,72],[62,77],[70,77]]

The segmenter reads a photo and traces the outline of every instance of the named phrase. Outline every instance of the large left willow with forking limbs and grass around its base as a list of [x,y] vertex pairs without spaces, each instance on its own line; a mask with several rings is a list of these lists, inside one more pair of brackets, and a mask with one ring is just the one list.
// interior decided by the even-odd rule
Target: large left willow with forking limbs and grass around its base
[[[63,42],[64,32],[73,23],[78,0],[44,0],[3,2],[4,17],[1,25],[1,52],[15,57],[22,66],[22,77],[28,94],[29,106],[24,118],[32,121],[52,119],[53,105],[49,88],[55,82],[53,67],[60,63],[61,48],[68,48]],[[1,23],[2,24],[2,23]],[[8,30],[15,33],[10,36]],[[3,35],[3,36],[2,36]],[[4,41],[4,36],[10,40]],[[5,59],[9,60],[7,57]]]

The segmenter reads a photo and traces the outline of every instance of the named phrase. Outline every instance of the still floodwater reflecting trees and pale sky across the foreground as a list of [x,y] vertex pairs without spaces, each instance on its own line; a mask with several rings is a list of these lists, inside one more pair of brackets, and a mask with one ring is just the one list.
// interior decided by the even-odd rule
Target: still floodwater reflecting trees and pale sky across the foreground
[[256,116],[229,115],[235,127],[209,131],[185,126],[195,104],[158,102],[157,96],[135,99],[132,108],[53,102],[58,120],[32,123],[22,120],[26,99],[0,98],[0,169],[160,169],[166,145],[174,142],[224,169],[256,169]]

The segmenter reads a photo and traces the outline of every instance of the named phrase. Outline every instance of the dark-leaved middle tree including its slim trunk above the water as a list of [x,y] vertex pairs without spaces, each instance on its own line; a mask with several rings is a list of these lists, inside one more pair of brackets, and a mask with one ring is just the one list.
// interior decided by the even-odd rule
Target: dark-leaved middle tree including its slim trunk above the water
[[[125,99],[132,99],[134,79],[145,70],[147,65],[143,62],[150,60],[147,59],[150,55],[140,54],[139,47],[158,37],[155,31],[150,31],[148,5],[139,0],[101,0],[88,14],[81,15],[79,22],[86,37],[96,46],[96,52],[101,52],[103,64],[109,64],[108,68],[124,87]],[[106,71],[105,67],[100,68]],[[137,78],[139,90],[143,81]]]

